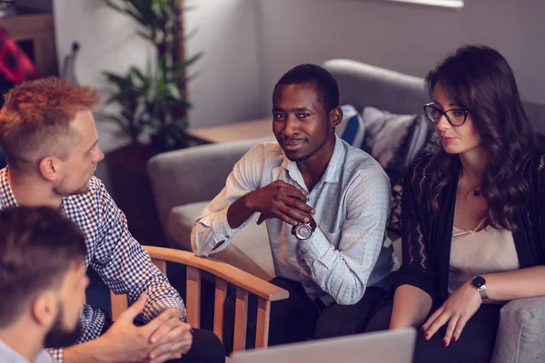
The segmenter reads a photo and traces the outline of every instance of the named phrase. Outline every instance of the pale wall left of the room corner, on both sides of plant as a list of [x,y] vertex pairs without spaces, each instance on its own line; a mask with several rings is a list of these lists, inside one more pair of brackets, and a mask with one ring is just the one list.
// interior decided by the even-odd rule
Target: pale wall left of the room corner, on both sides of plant
[[[188,84],[194,108],[190,127],[233,123],[260,116],[263,109],[261,63],[253,0],[185,0],[186,56],[203,52]],[[104,70],[124,73],[144,67],[152,48],[139,38],[134,21],[102,0],[54,0],[59,66],[75,40],[80,45],[76,76],[80,83],[104,88]],[[107,152],[125,140],[99,123],[100,145]]]

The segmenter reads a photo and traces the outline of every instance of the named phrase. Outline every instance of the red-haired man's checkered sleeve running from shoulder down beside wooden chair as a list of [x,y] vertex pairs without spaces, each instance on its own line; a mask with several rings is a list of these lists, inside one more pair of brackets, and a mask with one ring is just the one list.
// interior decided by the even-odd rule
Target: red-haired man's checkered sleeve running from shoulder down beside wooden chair
[[166,308],[181,309],[185,313],[180,294],[134,240],[124,213],[117,208],[104,184],[92,178],[91,188],[100,225],[91,260],[94,270],[115,294],[127,294],[129,303],[146,291],[147,303],[142,312],[145,321],[154,319]]

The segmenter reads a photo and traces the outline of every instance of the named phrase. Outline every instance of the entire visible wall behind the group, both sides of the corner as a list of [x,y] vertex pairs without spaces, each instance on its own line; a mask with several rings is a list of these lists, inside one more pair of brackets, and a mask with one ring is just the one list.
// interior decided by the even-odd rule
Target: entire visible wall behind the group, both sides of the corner
[[[203,51],[190,74],[190,127],[268,115],[272,86],[296,64],[352,58],[423,76],[464,43],[497,48],[521,93],[545,103],[542,0],[466,0],[461,11],[381,0],[185,0],[186,54]],[[144,66],[151,49],[132,19],[102,0],[54,0],[59,65],[77,40],[80,82],[104,86],[103,70]],[[123,143],[101,124],[101,146]]]

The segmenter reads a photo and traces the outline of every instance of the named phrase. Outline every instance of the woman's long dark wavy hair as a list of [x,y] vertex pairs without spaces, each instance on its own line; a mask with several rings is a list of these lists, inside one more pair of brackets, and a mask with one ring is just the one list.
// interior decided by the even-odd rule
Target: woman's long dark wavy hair
[[[481,132],[488,164],[481,193],[489,205],[486,224],[514,231],[514,213],[528,201],[530,186],[522,169],[536,149],[535,135],[522,108],[515,76],[505,58],[483,45],[464,45],[426,76],[426,87],[441,83],[452,101],[468,110]],[[431,211],[437,213],[439,195],[454,176],[459,162],[439,148],[431,159]]]

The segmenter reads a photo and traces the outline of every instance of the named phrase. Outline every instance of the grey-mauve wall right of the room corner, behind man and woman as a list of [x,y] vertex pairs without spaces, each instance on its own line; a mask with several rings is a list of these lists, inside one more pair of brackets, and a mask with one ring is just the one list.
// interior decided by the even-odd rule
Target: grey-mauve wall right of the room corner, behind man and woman
[[543,0],[466,0],[461,11],[381,0],[258,1],[265,90],[294,65],[337,57],[424,76],[458,45],[481,43],[507,58],[523,96],[545,103]]

